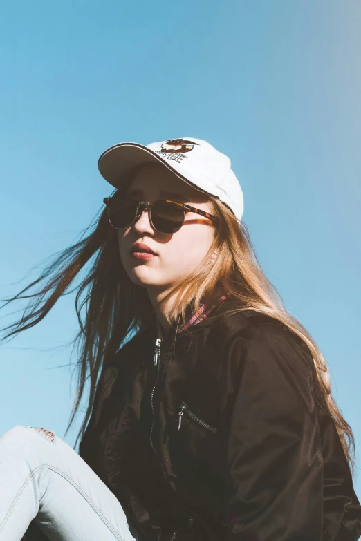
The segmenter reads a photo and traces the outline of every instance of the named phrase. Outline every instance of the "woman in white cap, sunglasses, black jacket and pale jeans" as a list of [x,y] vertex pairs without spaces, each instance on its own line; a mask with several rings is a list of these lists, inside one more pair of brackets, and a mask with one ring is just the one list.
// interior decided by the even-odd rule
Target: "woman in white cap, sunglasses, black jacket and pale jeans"
[[26,539],[57,541],[360,538],[351,428],[261,272],[230,160],[191,138],[118,144],[99,168],[116,190],[95,231],[29,286],[52,275],[7,335],[95,256],[76,304],[80,455],[45,428],[1,437],[0,540],[30,522]]

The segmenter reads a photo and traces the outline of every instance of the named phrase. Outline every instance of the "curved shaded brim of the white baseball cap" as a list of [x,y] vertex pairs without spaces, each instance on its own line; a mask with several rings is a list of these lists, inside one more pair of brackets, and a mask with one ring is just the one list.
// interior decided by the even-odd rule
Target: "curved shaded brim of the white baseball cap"
[[115,188],[120,187],[123,178],[135,167],[146,163],[163,164],[178,178],[187,182],[198,191],[207,193],[205,190],[193,184],[185,175],[174,169],[167,160],[156,152],[138,143],[119,143],[104,151],[98,160],[98,169],[109,184]]

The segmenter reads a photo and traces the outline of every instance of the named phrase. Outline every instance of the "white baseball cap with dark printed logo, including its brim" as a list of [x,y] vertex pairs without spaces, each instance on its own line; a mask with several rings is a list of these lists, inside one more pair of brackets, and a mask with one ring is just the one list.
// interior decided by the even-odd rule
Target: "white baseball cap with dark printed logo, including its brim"
[[102,153],[98,168],[105,180],[119,188],[124,175],[134,167],[159,162],[187,184],[219,198],[241,220],[243,192],[231,169],[230,158],[214,149],[207,141],[183,137],[147,146],[119,143]]

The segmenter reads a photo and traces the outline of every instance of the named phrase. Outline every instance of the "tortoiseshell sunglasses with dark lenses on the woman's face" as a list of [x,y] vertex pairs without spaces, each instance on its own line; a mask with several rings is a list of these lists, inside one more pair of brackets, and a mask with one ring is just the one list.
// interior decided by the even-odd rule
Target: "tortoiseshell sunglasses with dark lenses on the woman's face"
[[195,212],[212,222],[216,222],[216,216],[201,209],[189,207],[185,203],[170,200],[159,200],[149,203],[136,199],[120,196],[115,193],[112,197],[103,199],[108,208],[109,222],[115,229],[126,229],[136,222],[142,211],[148,209],[151,226],[160,233],[176,233],[182,227],[187,212]]

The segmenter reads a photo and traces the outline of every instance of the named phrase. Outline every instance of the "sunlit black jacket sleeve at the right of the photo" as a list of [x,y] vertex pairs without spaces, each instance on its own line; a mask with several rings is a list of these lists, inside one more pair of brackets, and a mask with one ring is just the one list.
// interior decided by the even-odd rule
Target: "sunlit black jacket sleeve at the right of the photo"
[[[236,363],[239,383],[226,444],[225,539],[357,540],[361,515],[354,493],[347,531],[342,520],[351,498],[335,502],[333,532],[324,530],[322,436],[306,345],[290,330],[259,325],[232,339],[229,359]],[[337,475],[347,476],[343,460]]]

